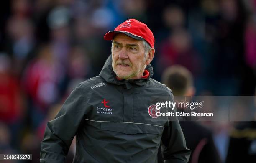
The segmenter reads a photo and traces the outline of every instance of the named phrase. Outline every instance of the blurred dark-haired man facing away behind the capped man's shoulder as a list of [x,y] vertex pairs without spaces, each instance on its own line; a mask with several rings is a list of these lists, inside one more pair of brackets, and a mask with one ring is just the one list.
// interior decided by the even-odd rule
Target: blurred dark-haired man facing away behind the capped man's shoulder
[[[193,76],[183,66],[174,65],[167,68],[162,75],[162,82],[172,89],[174,96],[192,97],[195,94]],[[187,147],[191,149],[189,163],[221,162],[212,138],[212,133],[209,129],[195,122],[195,120],[191,120],[190,117],[185,117],[180,122],[180,125],[186,139]],[[162,162],[161,155],[159,155],[159,163]]]

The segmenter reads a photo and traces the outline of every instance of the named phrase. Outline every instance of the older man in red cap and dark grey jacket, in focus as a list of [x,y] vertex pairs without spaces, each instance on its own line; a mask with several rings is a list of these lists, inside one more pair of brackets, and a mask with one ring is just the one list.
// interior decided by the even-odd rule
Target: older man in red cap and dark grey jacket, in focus
[[151,101],[174,100],[170,89],[151,79],[153,33],[129,19],[104,39],[112,40],[112,55],[100,75],[80,83],[47,123],[41,163],[64,162],[74,136],[75,163],[156,163],[161,141],[166,163],[186,163],[190,150],[179,122],[157,117]]

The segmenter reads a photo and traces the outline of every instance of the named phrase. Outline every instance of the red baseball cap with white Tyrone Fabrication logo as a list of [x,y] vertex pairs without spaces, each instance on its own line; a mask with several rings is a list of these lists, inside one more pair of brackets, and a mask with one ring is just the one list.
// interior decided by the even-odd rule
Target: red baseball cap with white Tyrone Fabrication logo
[[146,40],[151,48],[154,48],[155,38],[153,33],[146,24],[141,23],[136,19],[128,19],[121,23],[114,31],[106,33],[104,40],[113,40],[117,33],[123,33],[136,40]]

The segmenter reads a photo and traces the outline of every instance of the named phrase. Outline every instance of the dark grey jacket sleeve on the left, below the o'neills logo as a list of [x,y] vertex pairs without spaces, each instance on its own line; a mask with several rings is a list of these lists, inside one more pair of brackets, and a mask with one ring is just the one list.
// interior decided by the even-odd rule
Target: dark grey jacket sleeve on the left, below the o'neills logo
[[54,120],[46,125],[41,143],[41,163],[64,163],[69,146],[88,110],[86,103],[80,84],[71,92]]

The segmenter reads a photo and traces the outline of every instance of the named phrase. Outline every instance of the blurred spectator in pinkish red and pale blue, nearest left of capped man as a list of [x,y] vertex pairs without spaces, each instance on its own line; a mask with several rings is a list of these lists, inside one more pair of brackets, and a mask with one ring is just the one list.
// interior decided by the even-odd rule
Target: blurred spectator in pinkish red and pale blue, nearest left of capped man
[[26,67],[23,87],[28,94],[32,127],[36,128],[51,104],[59,99],[59,84],[64,79],[60,63],[54,58],[50,45],[42,46]]

